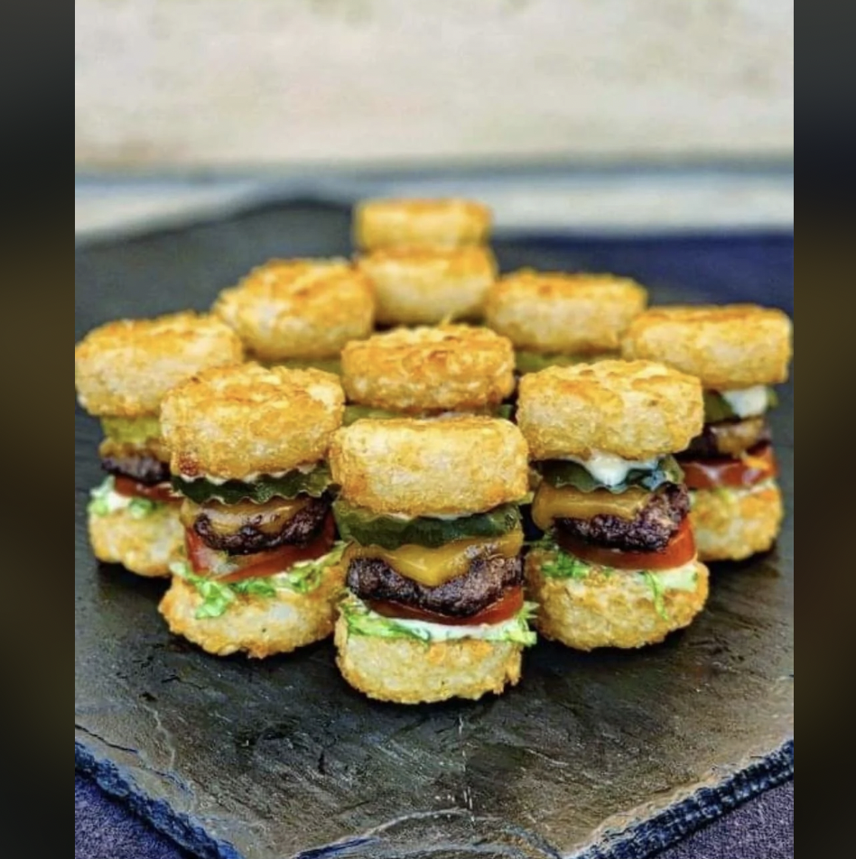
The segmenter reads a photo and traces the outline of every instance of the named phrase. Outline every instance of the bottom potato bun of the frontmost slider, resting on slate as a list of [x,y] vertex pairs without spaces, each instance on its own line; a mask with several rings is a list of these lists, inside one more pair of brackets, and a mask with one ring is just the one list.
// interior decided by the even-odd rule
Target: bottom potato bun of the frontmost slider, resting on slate
[[453,697],[501,695],[520,682],[522,648],[510,642],[463,639],[425,645],[406,639],[351,635],[336,624],[339,669],[368,697],[395,704],[432,704]]

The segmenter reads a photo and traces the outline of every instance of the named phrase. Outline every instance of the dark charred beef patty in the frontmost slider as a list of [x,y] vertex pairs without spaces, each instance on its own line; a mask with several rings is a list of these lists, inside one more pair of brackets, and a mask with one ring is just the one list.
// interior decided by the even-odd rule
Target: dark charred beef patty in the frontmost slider
[[466,575],[440,587],[420,585],[379,559],[354,559],[348,568],[348,587],[360,599],[392,600],[450,617],[479,614],[522,584],[522,559],[499,555],[475,559]]

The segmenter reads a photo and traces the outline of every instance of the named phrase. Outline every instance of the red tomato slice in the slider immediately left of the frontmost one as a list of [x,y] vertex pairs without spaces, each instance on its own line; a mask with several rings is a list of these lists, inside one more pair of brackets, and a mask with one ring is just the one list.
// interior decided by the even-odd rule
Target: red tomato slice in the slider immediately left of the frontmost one
[[228,555],[205,545],[196,531],[185,531],[187,555],[193,571],[200,576],[212,576],[219,582],[239,582],[247,578],[265,578],[284,573],[303,560],[323,558],[333,548],[336,526],[328,516],[317,537],[302,545],[283,546],[255,555]]

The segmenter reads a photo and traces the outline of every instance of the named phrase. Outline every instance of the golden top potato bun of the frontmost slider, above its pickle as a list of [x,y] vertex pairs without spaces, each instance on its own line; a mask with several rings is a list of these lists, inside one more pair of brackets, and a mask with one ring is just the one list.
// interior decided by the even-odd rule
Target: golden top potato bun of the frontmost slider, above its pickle
[[376,513],[470,515],[529,491],[528,450],[507,420],[358,420],[330,448],[341,496]]

